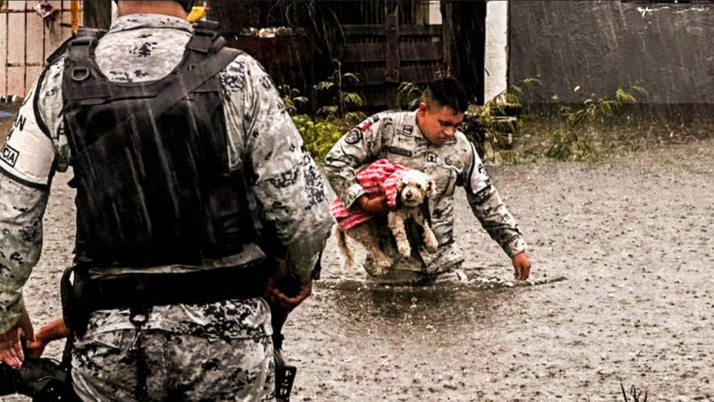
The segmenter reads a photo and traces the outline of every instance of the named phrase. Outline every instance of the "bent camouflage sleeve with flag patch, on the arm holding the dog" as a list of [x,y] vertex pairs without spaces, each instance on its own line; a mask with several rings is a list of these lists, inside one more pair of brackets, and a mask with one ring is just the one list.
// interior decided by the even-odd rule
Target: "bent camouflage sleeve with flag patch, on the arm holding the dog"
[[325,174],[342,205],[348,209],[364,194],[357,170],[377,159],[382,147],[380,115],[371,116],[337,141],[325,158]]

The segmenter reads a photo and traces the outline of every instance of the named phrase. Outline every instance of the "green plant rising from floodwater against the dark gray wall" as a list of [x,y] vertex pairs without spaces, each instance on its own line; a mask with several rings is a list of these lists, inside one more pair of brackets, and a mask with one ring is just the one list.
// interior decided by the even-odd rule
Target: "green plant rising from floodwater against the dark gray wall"
[[[643,91],[639,87],[633,87],[633,90]],[[561,106],[564,123],[550,132],[550,146],[545,155],[561,161],[598,159],[596,125],[602,125],[608,117],[618,114],[625,104],[634,103],[633,90],[618,88],[612,98],[590,94],[577,106]],[[573,91],[580,91],[580,86],[575,86]]]

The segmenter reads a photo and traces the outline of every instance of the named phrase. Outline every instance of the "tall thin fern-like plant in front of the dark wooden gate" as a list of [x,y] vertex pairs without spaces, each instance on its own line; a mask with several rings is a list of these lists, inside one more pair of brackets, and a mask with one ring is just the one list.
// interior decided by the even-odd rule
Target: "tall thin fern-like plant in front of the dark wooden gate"
[[333,104],[322,106],[318,109],[317,114],[327,118],[338,116],[353,124],[358,123],[366,118],[366,114],[361,111],[349,111],[351,108],[363,106],[361,96],[356,92],[348,92],[344,90],[344,86],[350,82],[356,84],[359,79],[355,74],[342,73],[342,64],[337,62],[337,69],[326,80],[318,82],[314,88],[317,92],[326,92],[331,95]]

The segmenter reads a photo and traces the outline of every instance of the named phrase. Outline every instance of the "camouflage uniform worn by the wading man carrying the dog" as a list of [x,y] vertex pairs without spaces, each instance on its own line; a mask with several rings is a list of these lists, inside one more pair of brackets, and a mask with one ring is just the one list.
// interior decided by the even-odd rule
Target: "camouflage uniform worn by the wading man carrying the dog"
[[384,229],[380,233],[382,248],[396,260],[394,273],[406,278],[423,279],[425,275],[434,278],[463,262],[453,238],[456,186],[466,189],[473,214],[508,256],[526,250],[518,223],[501,201],[481,159],[461,131],[445,145],[437,146],[419,131],[416,112],[384,112],[363,121],[343,136],[326,158],[327,179],[347,208],[355,207],[364,194],[355,179],[356,171],[377,159],[389,159],[424,171],[436,184],[437,194],[428,203],[431,227],[439,242],[436,253],[430,253],[422,244],[411,257],[402,258],[387,226],[380,226]]

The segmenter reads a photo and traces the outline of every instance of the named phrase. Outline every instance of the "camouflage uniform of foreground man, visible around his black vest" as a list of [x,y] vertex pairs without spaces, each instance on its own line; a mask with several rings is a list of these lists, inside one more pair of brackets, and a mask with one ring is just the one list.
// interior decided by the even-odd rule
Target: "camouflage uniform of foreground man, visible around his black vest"
[[[96,61],[111,81],[162,79],[181,62],[192,31],[171,16],[124,16],[99,41]],[[63,69],[64,59],[45,69],[1,153],[0,333],[17,322],[22,286],[39,260],[51,177],[69,167]],[[221,82],[230,167],[253,173],[250,202],[261,206],[261,221],[277,229],[293,273],[307,282],[333,224],[318,168],[256,60],[241,54],[221,72]],[[101,275],[119,272],[103,269]],[[271,314],[262,298],[156,306],[141,333],[148,400],[273,401]],[[128,310],[91,315],[85,336],[74,342],[73,379],[81,398],[131,399],[135,335]]]

